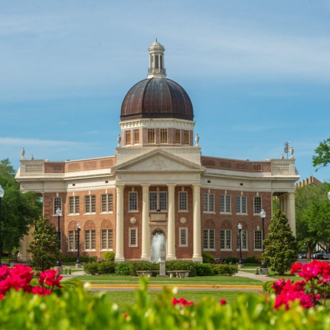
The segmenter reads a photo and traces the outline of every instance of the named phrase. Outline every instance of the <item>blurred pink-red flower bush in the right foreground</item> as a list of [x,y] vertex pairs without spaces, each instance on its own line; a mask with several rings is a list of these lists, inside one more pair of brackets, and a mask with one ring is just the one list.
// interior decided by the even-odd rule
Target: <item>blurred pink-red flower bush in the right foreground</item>
[[302,281],[280,279],[271,286],[275,290],[276,300],[274,308],[285,306],[290,308],[290,302],[298,300],[304,308],[320,305],[330,291],[330,265],[324,261],[313,260],[302,265],[300,262],[293,263],[291,274],[298,274]]

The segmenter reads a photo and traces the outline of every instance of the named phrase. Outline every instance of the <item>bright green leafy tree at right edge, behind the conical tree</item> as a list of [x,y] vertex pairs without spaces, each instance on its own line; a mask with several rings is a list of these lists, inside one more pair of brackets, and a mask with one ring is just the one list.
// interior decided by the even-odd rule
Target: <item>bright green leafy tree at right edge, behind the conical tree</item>
[[299,247],[307,247],[308,257],[317,243],[330,244],[330,203],[328,183],[307,185],[295,194],[296,238]]

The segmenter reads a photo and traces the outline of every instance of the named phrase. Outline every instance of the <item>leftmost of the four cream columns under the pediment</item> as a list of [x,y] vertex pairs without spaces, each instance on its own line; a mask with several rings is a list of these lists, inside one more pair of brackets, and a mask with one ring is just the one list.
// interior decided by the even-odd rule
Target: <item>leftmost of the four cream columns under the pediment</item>
[[116,190],[116,256],[115,261],[124,261],[124,185],[117,185]]

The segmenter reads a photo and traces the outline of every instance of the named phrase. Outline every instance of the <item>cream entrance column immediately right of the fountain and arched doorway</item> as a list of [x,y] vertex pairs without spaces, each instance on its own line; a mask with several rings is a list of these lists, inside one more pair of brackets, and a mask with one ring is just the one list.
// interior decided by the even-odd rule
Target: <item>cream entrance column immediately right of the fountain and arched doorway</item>
[[168,237],[167,237],[167,260],[176,260],[175,253],[175,184],[168,184],[169,190],[169,214],[168,214]]

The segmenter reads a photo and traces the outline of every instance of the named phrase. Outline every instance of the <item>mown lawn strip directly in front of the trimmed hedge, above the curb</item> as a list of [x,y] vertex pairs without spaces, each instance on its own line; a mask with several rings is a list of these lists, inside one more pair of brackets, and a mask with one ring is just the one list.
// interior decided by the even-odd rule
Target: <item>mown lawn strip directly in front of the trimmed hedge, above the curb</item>
[[[120,275],[83,275],[77,276],[83,282],[93,284],[135,284],[139,283],[138,277]],[[228,285],[262,285],[261,281],[238,276],[200,276],[188,278],[157,278],[150,277],[150,284],[228,284]]]

